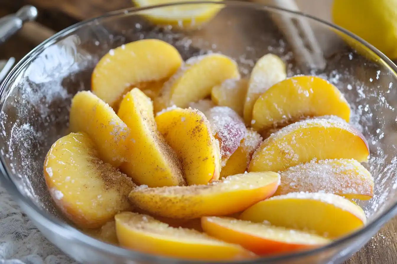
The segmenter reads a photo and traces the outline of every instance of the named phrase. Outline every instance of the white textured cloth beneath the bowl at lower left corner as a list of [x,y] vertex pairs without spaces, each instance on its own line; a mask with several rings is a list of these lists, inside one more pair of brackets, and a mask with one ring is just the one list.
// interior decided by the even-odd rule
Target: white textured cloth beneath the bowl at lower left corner
[[77,264],[50,243],[0,186],[0,264]]

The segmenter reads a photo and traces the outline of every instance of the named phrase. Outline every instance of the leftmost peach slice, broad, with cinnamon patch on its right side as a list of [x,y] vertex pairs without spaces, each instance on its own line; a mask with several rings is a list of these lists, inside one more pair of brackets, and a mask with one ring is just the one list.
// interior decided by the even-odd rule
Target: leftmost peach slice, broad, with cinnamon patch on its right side
[[98,228],[116,213],[131,209],[131,178],[98,157],[85,133],[58,139],[44,160],[44,178],[51,197],[69,220],[82,228]]

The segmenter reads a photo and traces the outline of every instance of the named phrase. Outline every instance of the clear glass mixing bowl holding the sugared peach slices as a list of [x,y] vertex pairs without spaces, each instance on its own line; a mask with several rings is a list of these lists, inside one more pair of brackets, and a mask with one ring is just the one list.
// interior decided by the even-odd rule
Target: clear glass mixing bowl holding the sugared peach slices
[[[351,123],[370,145],[371,157],[365,166],[374,176],[375,195],[370,201],[358,201],[368,216],[368,224],[361,230],[312,251],[240,263],[324,264],[345,260],[396,212],[396,66],[360,38],[308,15],[248,2],[206,4],[222,9],[200,27],[160,25],[147,19],[148,12],[172,9],[175,4],[131,8],[66,28],[26,55],[1,85],[3,186],[44,236],[79,262],[190,263],[109,245],[68,224],[48,194],[42,173],[44,157],[52,143],[67,131],[71,98],[77,91],[90,89],[93,67],[112,48],[142,38],[158,38],[174,45],[183,59],[208,52],[233,57],[243,76],[262,55],[274,53],[288,65],[288,76],[321,76],[345,94],[352,105]],[[315,29],[320,42],[324,36],[336,40],[338,45],[330,45],[328,40],[320,43],[325,68],[299,63],[297,51],[284,38],[283,30],[275,26],[274,18],[307,23]],[[359,52],[342,39],[353,43]]]

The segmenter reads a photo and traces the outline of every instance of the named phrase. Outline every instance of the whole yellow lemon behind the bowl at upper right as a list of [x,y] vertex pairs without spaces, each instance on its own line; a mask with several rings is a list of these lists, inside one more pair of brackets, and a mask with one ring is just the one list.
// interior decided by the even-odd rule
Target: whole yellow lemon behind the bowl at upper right
[[397,0],[334,0],[333,22],[397,59]]

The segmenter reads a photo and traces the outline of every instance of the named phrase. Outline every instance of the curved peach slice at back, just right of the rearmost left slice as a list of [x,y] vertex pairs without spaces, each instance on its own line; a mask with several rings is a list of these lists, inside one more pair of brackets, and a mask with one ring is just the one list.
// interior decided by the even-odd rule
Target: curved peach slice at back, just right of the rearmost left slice
[[175,104],[186,108],[189,103],[209,96],[215,85],[239,76],[237,63],[225,55],[192,57],[164,84],[157,101],[165,107]]

